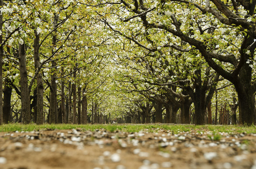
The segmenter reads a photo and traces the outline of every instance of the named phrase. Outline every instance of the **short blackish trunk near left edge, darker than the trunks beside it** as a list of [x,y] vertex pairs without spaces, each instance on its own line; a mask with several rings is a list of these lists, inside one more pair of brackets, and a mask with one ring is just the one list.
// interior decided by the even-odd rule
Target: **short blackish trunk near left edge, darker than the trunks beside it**
[[3,123],[11,122],[11,98],[12,98],[12,80],[8,77],[4,80],[4,104],[3,104]]

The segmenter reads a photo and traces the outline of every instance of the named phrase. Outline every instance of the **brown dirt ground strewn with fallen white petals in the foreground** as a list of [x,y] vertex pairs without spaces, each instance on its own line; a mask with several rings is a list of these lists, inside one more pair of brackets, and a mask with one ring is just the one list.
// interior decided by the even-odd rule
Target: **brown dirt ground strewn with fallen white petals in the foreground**
[[4,169],[256,169],[256,134],[40,130],[0,133]]

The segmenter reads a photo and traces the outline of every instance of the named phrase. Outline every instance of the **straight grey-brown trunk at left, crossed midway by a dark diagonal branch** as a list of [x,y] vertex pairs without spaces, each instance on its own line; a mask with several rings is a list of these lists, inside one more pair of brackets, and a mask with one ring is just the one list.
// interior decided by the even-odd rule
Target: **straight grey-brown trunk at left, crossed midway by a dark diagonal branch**
[[[39,58],[39,40],[40,33],[35,32],[34,39],[34,62],[35,62],[35,70],[37,70],[40,66],[40,58]],[[44,123],[44,85],[43,85],[43,77],[42,73],[38,73],[36,76],[36,86],[37,86],[37,97],[36,97],[36,124]]]

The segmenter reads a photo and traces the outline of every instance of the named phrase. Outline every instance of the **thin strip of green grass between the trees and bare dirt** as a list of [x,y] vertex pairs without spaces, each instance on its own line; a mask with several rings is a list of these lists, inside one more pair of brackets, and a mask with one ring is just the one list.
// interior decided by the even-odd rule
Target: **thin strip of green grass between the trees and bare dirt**
[[[214,126],[214,125],[159,125],[159,124],[148,124],[148,125],[75,125],[75,124],[3,124],[0,125],[0,132],[14,132],[18,131],[32,131],[32,130],[45,130],[45,129],[76,129],[81,128],[82,130],[96,130],[96,129],[106,129],[110,132],[116,130],[126,131],[126,132],[139,132],[140,130],[147,130],[148,132],[157,132],[160,129],[168,130],[173,134],[178,134],[180,132],[196,130],[196,132],[204,132],[204,130],[212,131],[213,135],[216,135],[217,132],[227,132],[227,133],[256,133],[255,126],[238,126],[238,125],[223,125],[223,126]],[[218,136],[216,136],[218,137]],[[218,138],[215,138],[218,140]],[[215,140],[214,139],[214,140]]]

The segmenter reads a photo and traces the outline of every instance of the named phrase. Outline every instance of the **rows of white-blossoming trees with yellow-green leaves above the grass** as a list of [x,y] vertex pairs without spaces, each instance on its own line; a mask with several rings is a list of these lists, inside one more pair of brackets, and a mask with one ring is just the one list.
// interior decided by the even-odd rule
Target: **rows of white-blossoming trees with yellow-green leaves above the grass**
[[255,4],[0,0],[0,123],[255,123]]

